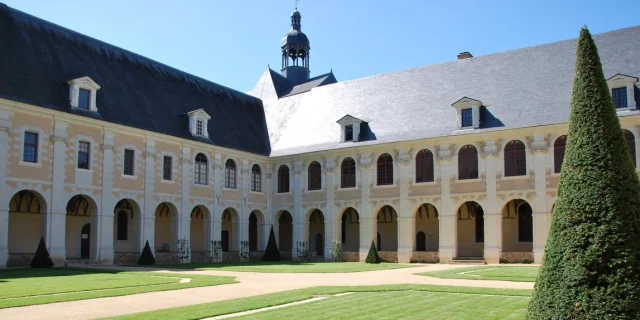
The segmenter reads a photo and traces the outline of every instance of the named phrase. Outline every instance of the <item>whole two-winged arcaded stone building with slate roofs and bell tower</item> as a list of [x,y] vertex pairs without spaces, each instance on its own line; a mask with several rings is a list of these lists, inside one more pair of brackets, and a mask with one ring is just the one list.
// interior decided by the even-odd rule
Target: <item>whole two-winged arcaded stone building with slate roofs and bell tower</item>
[[[244,94],[0,4],[0,265],[540,262],[576,40],[338,82],[301,18]],[[640,27],[594,38],[635,161]]]

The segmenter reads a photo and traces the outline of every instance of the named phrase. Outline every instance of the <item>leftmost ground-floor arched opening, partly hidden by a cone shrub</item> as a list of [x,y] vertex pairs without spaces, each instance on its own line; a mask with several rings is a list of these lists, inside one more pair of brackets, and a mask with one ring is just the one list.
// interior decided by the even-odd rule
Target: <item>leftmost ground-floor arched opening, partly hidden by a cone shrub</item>
[[31,263],[40,238],[45,236],[46,225],[46,202],[39,193],[22,190],[11,197],[7,267],[25,267]]

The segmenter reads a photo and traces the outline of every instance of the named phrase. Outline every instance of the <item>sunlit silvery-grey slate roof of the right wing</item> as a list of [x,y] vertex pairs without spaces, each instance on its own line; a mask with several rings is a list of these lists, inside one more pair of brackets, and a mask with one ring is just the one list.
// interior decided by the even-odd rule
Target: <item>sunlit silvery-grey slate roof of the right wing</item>
[[[607,78],[640,76],[640,26],[594,39]],[[329,84],[279,99],[263,75],[251,94],[265,105],[271,156],[564,123],[575,49],[576,39],[561,41]],[[451,104],[465,96],[483,103],[478,130],[456,131]],[[336,121],[347,114],[366,122],[361,129],[365,141],[339,143]]]

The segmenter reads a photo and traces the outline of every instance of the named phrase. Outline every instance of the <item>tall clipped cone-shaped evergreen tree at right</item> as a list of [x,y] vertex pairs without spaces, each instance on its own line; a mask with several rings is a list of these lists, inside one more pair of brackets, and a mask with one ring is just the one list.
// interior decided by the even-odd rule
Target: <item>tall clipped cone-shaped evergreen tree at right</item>
[[526,319],[640,319],[640,183],[591,34],[580,32],[567,150]]

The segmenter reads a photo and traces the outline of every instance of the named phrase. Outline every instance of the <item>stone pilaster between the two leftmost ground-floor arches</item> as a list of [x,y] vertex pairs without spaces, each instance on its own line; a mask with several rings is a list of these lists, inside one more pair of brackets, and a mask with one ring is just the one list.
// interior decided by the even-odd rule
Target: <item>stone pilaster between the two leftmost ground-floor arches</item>
[[66,261],[67,252],[66,224],[67,224],[67,201],[69,200],[64,191],[64,175],[66,167],[67,153],[67,124],[56,121],[53,141],[53,172],[51,185],[51,209],[47,213],[47,232],[45,241],[49,245],[49,254],[55,265],[63,265]]

